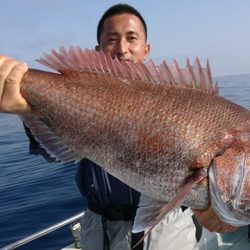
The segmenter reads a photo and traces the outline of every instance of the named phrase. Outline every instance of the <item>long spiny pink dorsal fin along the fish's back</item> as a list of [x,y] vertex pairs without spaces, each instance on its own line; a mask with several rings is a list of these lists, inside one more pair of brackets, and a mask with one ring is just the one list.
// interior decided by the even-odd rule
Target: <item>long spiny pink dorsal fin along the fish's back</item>
[[180,68],[175,60],[170,65],[163,61],[156,66],[152,60],[146,64],[134,64],[113,59],[110,54],[102,51],[70,46],[69,49],[60,47],[58,51],[52,49],[37,61],[64,75],[70,71],[103,73],[123,79],[194,88],[218,94],[218,86],[213,84],[209,63],[203,68],[198,58],[194,65],[187,59],[185,68]]

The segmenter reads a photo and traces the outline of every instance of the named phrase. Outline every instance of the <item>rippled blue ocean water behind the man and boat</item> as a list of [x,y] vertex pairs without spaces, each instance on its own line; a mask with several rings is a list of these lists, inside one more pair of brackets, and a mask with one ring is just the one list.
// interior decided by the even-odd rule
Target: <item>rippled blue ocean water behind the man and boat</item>
[[[220,94],[250,109],[250,74],[217,77]],[[17,116],[0,114],[0,248],[83,210],[76,166],[46,163],[28,154]],[[72,241],[68,226],[19,249],[60,249]]]

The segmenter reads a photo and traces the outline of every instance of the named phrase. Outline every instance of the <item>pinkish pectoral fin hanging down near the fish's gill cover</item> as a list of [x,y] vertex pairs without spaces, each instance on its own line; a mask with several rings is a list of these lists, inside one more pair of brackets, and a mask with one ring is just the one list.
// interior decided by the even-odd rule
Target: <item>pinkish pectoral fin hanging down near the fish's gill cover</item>
[[192,188],[206,176],[206,169],[202,168],[196,170],[192,176],[190,176],[187,183],[181,188],[179,193],[168,203],[154,200],[153,198],[142,194],[136,212],[132,232],[138,233],[145,230],[147,232],[136,243],[136,245],[133,246],[133,248],[135,248],[172,209],[180,206],[181,202],[191,192]]

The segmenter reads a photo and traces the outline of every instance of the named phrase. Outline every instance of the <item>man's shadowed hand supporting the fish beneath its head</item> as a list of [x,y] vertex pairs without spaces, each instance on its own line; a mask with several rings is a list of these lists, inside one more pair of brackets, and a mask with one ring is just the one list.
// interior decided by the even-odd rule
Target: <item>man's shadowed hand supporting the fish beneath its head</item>
[[199,224],[210,232],[226,233],[234,232],[238,228],[222,222],[210,205],[206,210],[194,210],[194,215]]

